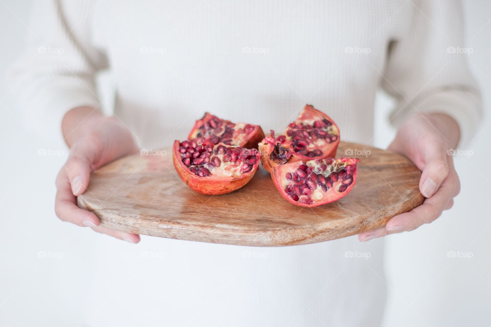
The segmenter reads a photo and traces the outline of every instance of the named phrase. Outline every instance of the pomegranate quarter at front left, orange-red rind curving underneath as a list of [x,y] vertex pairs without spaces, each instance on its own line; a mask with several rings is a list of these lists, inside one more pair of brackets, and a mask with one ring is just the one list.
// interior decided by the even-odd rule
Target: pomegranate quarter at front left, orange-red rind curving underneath
[[174,141],[172,160],[181,179],[194,191],[225,194],[240,189],[254,176],[259,152],[223,143]]

